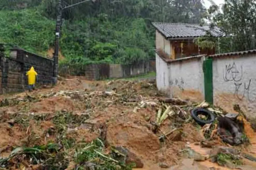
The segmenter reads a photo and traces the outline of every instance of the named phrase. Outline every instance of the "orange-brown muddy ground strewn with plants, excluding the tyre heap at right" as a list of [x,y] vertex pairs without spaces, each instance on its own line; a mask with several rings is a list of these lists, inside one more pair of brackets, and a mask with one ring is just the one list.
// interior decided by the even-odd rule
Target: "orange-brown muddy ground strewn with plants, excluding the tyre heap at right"
[[[225,169],[209,160],[194,163],[184,154],[191,148],[207,157],[212,150],[200,146],[205,137],[201,126],[190,119],[193,106],[172,106],[175,113],[181,108],[185,113],[168,117],[155,129],[156,113],[164,105],[159,98],[164,97],[152,80],[96,82],[79,77],[63,79],[54,88],[1,96],[0,165],[6,169],[131,169],[127,161],[121,164],[113,155],[115,147],[122,147],[144,170]],[[255,133],[246,125],[252,145],[235,148],[253,155]],[[173,129],[179,131],[164,136]],[[218,137],[212,142],[213,148],[230,147]],[[241,159],[239,166],[256,167],[247,159]]]

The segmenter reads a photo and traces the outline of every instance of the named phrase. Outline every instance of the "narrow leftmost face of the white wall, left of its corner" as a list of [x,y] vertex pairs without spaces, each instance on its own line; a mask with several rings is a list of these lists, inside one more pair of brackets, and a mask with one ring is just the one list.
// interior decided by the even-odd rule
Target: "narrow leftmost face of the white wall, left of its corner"
[[156,54],[156,85],[158,90],[169,89],[169,68],[168,64]]

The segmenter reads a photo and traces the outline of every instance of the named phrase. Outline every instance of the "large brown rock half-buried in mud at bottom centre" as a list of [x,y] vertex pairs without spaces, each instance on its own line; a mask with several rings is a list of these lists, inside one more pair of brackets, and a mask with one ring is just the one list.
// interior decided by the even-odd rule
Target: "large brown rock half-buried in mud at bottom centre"
[[115,159],[117,158],[127,165],[134,163],[136,165],[134,168],[143,168],[144,166],[142,160],[136,154],[124,147],[114,147],[112,154]]

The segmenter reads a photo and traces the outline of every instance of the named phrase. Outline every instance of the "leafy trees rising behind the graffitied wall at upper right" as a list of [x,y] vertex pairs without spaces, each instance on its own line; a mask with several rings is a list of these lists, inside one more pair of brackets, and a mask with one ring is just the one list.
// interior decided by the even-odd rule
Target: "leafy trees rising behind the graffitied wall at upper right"
[[[205,18],[210,20],[212,28],[218,26],[228,36],[221,38],[220,52],[256,49],[256,1],[224,0],[224,4],[220,6],[213,0],[209,1],[212,6]],[[218,46],[217,39],[208,37],[201,40],[203,44]]]

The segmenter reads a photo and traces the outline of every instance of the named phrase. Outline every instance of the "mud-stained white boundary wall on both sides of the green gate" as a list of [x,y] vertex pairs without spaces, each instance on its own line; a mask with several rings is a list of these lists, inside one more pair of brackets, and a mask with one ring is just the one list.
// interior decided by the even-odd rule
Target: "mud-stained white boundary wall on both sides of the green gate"
[[[239,104],[248,118],[256,117],[256,54],[213,57],[213,101],[229,113]],[[174,97],[204,99],[203,57],[166,63],[156,54],[159,90]],[[195,97],[198,96],[198,97]]]

